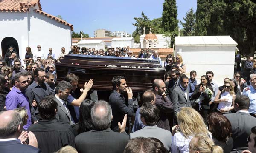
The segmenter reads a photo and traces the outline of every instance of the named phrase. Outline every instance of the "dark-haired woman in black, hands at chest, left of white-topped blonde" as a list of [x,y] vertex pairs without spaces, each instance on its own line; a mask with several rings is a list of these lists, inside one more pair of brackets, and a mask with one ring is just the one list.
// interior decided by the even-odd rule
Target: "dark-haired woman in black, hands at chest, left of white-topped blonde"
[[[205,89],[209,88],[212,91],[212,86],[209,83],[209,78],[206,75],[201,76],[201,83],[195,86],[194,94],[192,94],[191,99],[196,101],[202,95],[202,101],[195,104],[194,108],[197,110],[204,119],[204,122],[207,124],[207,115],[210,112],[211,97],[208,96],[208,93],[205,92]],[[194,102],[195,103],[195,102]]]

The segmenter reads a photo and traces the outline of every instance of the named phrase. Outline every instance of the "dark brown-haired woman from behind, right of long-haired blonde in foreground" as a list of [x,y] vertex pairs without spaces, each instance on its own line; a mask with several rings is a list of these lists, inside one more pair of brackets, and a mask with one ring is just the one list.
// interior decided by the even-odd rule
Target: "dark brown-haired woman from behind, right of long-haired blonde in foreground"
[[208,117],[209,130],[215,145],[222,147],[224,153],[230,153],[233,147],[231,123],[219,112],[210,113]]

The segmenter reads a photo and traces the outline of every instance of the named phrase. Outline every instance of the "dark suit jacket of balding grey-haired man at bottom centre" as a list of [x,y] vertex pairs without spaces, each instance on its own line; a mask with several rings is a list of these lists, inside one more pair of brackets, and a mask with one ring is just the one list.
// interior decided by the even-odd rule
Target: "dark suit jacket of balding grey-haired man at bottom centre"
[[114,132],[110,128],[83,132],[75,138],[79,153],[123,153],[128,140],[129,135]]

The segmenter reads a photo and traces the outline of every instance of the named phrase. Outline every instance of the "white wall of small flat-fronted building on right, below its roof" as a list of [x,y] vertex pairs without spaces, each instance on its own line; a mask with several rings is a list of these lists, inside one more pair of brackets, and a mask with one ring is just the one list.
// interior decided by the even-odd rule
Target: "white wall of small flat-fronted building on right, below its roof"
[[235,45],[176,45],[175,54],[179,54],[186,64],[186,75],[195,70],[197,72],[197,81],[200,83],[200,77],[206,71],[213,71],[213,81],[223,85],[225,77],[233,78]]

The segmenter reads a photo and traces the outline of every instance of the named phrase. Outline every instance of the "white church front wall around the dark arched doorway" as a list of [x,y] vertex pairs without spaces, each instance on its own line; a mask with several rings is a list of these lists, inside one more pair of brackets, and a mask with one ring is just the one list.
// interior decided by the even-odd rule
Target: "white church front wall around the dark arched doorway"
[[[0,42],[5,37],[13,37],[19,45],[20,58],[25,58],[28,45],[27,13],[23,12],[1,12],[0,13]],[[2,48],[0,47],[0,54]]]

